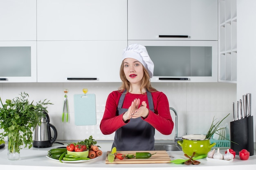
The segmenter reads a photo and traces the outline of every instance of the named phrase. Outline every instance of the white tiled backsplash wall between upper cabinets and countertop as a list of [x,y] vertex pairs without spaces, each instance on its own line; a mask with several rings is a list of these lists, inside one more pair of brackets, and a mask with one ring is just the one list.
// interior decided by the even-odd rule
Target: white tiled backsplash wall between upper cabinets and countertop
[[[232,102],[236,101],[236,84],[229,83],[152,83],[158,91],[164,92],[170,107],[177,111],[178,136],[185,134],[206,134],[213,117],[232,121]],[[0,83],[0,97],[6,99],[17,97],[20,92],[29,94],[35,102],[49,99],[54,105],[48,106],[50,123],[58,131],[58,140],[79,141],[88,139],[90,135],[96,140],[113,140],[115,134],[103,135],[99,129],[103,117],[106,99],[111,91],[117,90],[120,83]],[[69,122],[62,122],[64,93],[69,89]],[[83,94],[82,89],[96,95],[97,125],[76,126],[74,124],[74,94]],[[175,114],[171,111],[173,121]],[[174,139],[175,129],[171,135],[162,135],[156,131],[155,139]]]

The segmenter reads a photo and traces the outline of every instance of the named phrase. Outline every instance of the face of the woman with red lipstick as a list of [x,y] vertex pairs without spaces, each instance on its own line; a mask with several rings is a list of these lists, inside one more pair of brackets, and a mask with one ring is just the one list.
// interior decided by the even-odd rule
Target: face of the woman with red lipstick
[[124,74],[130,83],[141,82],[144,75],[143,65],[133,58],[124,59]]

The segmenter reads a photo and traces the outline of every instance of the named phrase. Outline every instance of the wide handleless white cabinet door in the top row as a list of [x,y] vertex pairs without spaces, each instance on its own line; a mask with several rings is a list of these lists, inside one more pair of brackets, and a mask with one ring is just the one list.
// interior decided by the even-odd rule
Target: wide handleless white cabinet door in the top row
[[37,0],[38,40],[127,40],[127,0]]

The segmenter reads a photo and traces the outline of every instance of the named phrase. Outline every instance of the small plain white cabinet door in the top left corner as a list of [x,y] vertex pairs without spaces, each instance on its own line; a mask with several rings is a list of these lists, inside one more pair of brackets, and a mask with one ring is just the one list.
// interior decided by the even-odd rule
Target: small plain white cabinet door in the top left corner
[[36,0],[0,0],[0,41],[36,40]]

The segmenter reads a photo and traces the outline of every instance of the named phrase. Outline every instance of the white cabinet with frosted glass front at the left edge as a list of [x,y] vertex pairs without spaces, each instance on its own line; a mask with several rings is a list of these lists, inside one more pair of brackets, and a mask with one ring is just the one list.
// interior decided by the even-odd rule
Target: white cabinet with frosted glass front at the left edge
[[36,41],[0,41],[0,83],[36,82]]

